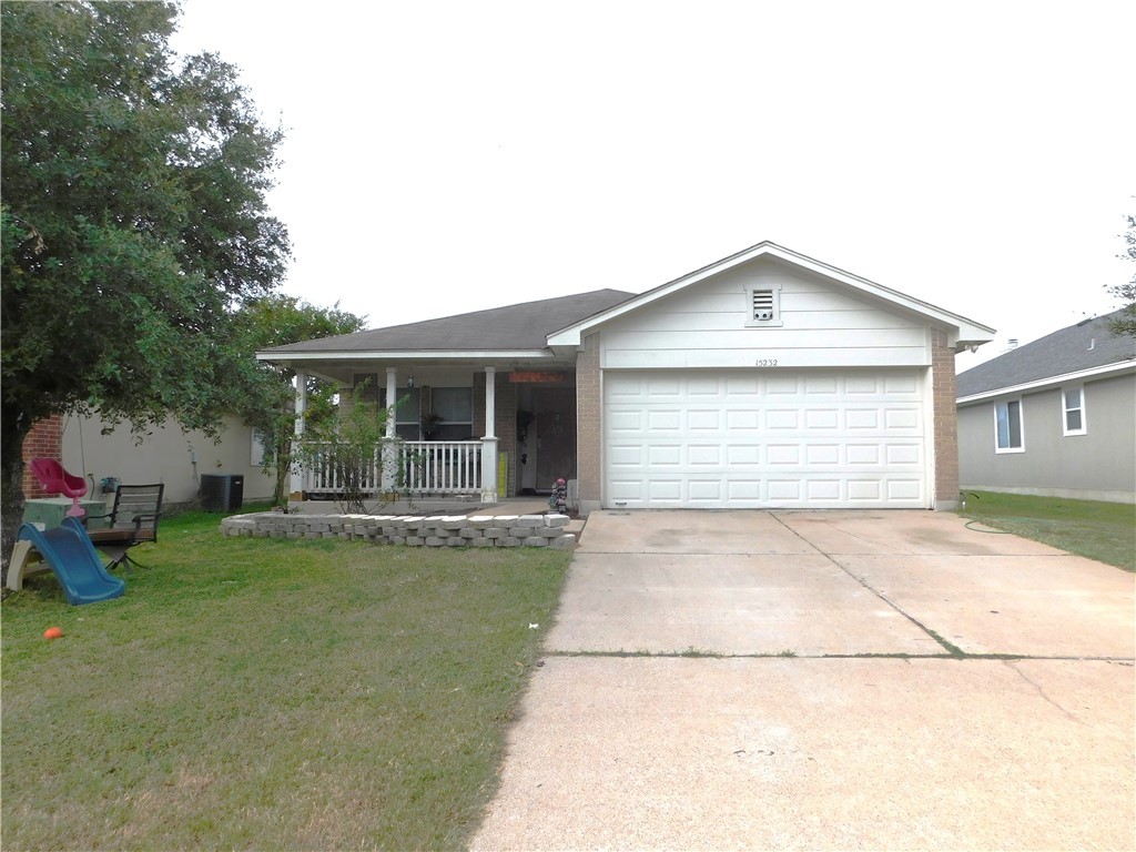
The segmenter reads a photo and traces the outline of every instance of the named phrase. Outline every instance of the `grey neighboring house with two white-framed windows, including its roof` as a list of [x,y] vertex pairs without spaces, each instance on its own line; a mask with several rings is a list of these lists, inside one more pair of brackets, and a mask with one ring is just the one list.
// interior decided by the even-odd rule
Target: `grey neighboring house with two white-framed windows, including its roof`
[[959,375],[962,487],[1136,502],[1136,340],[1086,319]]

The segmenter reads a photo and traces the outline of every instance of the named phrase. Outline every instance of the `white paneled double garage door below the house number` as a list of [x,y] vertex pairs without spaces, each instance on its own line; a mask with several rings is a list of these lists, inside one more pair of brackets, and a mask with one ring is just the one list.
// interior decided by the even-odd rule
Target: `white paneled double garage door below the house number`
[[609,508],[926,508],[922,370],[604,371]]

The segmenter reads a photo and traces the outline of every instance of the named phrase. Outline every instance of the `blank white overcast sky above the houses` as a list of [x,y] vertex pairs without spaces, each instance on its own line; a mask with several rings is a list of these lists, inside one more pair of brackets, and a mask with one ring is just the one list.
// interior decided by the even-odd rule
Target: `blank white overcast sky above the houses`
[[287,141],[284,291],[370,327],[762,240],[999,329],[1119,304],[1136,3],[185,0]]

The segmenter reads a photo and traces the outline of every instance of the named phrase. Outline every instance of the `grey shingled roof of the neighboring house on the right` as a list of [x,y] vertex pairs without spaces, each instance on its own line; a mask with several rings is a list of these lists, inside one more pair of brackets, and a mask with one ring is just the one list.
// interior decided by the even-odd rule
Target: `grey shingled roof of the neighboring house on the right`
[[1122,312],[1084,319],[960,373],[955,377],[959,400],[1070,381],[1118,366],[1136,368],[1136,339],[1109,331],[1109,323]]

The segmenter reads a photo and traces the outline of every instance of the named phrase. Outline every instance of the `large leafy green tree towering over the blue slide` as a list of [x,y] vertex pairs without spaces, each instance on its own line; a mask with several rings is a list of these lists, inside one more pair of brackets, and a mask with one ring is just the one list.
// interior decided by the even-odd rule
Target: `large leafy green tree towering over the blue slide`
[[212,429],[241,398],[236,309],[283,276],[278,130],[234,68],[178,60],[157,2],[0,5],[3,565],[37,419]]

